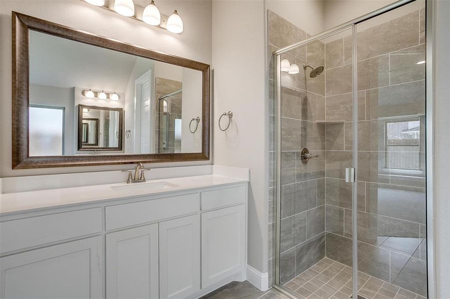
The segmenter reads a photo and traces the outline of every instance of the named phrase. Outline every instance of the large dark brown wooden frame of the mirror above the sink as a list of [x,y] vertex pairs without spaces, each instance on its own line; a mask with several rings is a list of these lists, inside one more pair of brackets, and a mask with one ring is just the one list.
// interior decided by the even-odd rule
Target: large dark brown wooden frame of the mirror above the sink
[[[202,151],[186,153],[29,156],[29,30],[202,72]],[[209,160],[210,66],[100,37],[12,11],[12,169]]]

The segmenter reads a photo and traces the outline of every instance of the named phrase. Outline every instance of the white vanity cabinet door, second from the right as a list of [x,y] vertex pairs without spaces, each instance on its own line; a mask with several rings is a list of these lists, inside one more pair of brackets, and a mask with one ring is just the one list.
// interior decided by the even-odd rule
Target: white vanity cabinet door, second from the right
[[160,298],[185,298],[200,290],[200,216],[159,224]]

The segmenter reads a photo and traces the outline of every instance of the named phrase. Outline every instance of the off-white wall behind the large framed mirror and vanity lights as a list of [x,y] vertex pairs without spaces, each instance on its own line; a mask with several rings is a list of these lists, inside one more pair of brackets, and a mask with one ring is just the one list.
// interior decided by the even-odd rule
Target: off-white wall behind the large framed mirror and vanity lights
[[[211,64],[211,1],[164,0],[161,13],[178,9],[184,23],[182,34],[95,7],[80,0],[2,0],[0,5],[0,101],[1,101],[1,176],[127,169],[130,165],[61,167],[11,170],[11,10],[136,44],[156,51]],[[159,163],[152,167],[207,164],[210,161]]]

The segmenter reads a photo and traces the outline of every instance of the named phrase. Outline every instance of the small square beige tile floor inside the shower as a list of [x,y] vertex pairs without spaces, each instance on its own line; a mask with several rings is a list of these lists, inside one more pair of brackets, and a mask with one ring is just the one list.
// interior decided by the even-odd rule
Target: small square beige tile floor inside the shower
[[[284,285],[300,299],[349,299],[352,268],[324,258]],[[358,294],[366,299],[425,299],[381,279],[358,272]]]

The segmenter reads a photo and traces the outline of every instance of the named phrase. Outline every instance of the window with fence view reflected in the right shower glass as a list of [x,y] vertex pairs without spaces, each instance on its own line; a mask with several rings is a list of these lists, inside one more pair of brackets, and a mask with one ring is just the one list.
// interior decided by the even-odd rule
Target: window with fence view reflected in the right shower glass
[[387,122],[385,129],[386,168],[420,170],[420,121]]

